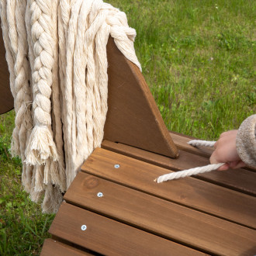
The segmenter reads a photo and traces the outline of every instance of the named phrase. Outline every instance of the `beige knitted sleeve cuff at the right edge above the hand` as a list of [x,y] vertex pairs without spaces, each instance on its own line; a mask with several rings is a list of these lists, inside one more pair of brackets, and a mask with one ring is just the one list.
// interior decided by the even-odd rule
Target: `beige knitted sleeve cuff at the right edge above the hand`
[[241,123],[237,132],[237,153],[245,164],[256,167],[256,115]]

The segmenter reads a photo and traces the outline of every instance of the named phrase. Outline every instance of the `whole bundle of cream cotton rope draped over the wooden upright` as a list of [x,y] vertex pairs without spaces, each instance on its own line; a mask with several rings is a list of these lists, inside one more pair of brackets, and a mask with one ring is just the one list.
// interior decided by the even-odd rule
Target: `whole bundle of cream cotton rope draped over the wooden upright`
[[81,164],[100,147],[108,109],[109,35],[140,68],[126,15],[102,0],[0,0],[14,97],[12,154],[43,213],[56,213]]

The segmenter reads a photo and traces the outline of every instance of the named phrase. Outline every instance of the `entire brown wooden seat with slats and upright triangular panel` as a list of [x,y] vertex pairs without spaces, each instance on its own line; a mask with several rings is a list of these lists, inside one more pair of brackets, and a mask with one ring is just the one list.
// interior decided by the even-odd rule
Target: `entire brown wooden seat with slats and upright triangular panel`
[[[2,40],[2,36],[1,40]],[[12,109],[2,41],[0,112]],[[105,137],[64,195],[41,255],[254,255],[256,172],[241,168],[157,184],[209,164],[211,149],[169,132],[137,66],[107,46]]]

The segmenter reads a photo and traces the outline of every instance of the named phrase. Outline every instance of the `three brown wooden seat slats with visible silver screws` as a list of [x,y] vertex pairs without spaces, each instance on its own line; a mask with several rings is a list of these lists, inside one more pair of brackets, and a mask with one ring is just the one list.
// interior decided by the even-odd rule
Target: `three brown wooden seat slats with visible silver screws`
[[154,182],[167,172],[96,149],[64,195],[50,234],[100,254],[255,254],[253,195],[195,177]]

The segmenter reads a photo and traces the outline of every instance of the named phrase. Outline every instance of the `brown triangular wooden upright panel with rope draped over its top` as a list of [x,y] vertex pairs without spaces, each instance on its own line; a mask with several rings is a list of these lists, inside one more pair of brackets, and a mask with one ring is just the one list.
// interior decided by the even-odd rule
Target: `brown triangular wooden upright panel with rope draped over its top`
[[118,50],[112,37],[109,37],[107,56],[109,97],[105,140],[177,157],[178,150],[143,75]]

